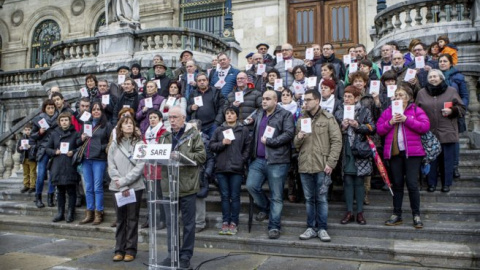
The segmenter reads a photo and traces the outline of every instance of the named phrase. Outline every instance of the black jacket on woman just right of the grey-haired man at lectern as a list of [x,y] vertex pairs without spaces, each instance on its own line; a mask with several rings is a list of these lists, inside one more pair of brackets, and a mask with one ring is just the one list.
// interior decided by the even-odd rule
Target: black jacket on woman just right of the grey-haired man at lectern
[[[224,145],[223,131],[230,128],[233,130],[235,140],[230,145]],[[234,128],[226,123],[218,127],[210,140],[210,150],[216,154],[215,172],[243,175],[249,158],[250,142],[248,128],[240,123],[237,123]]]

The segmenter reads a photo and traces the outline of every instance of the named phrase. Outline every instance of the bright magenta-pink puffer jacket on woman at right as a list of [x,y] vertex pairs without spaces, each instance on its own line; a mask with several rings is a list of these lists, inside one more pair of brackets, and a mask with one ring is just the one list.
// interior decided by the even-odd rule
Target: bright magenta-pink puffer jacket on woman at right
[[[410,104],[405,108],[404,115],[407,117],[407,120],[402,125],[402,132],[407,157],[425,156],[420,136],[430,130],[430,120],[427,114],[417,105]],[[386,136],[383,149],[383,158],[385,159],[390,159],[391,157],[393,135],[395,133],[395,126],[390,125],[390,119],[392,119],[391,106],[382,113],[377,122],[378,135]]]

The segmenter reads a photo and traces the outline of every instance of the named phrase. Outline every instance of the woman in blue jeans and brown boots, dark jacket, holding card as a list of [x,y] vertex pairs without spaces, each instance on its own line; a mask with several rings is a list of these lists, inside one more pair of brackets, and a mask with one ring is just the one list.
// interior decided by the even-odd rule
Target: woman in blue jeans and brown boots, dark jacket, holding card
[[[85,182],[87,210],[80,224],[98,225],[103,221],[103,174],[107,166],[107,145],[112,126],[107,121],[100,101],[91,106],[92,120],[85,121],[78,144],[82,151],[82,173]],[[94,216],[95,211],[95,216]]]

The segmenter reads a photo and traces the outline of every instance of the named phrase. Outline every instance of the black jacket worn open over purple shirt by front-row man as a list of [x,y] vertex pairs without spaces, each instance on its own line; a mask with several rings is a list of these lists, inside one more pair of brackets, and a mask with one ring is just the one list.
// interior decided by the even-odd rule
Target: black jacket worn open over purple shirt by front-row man
[[[255,133],[252,140],[252,157],[257,156],[257,140],[260,122],[262,121],[264,110],[257,113],[255,119]],[[295,123],[292,113],[277,105],[275,111],[268,117],[268,126],[275,128],[273,138],[267,138],[265,144],[265,154],[268,164],[290,163],[290,151],[292,148],[293,137],[295,136]],[[263,134],[261,134],[263,135]]]

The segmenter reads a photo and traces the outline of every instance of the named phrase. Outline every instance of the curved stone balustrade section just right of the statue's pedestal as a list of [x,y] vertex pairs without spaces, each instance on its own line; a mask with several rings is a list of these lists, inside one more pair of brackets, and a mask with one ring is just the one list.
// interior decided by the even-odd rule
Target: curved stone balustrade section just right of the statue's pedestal
[[229,45],[208,32],[187,28],[150,28],[136,31],[142,51],[181,49],[208,54],[226,51]]

